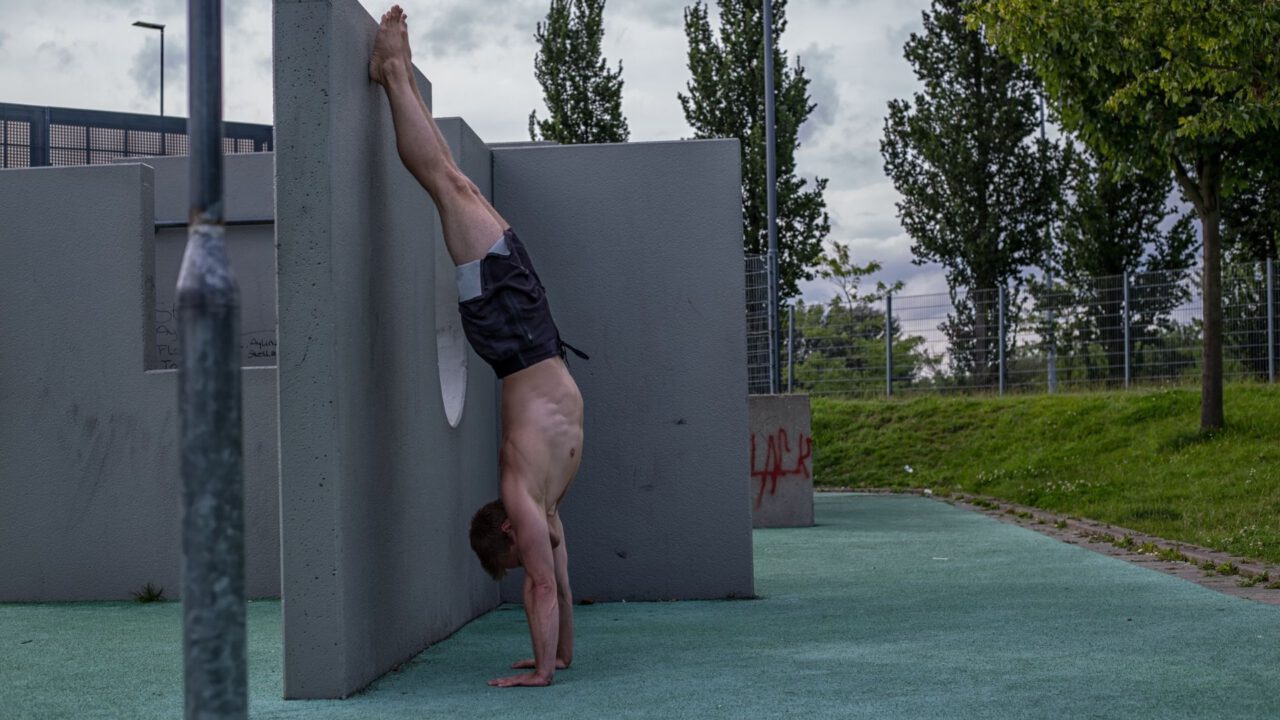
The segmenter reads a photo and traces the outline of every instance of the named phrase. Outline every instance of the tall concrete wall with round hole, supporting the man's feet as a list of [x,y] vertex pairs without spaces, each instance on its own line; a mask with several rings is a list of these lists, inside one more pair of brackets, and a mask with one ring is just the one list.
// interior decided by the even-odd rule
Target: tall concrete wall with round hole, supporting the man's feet
[[[367,77],[374,19],[280,0],[274,20],[284,693],[342,697],[498,603],[467,543],[498,492],[497,380],[449,340],[453,269]],[[488,150],[452,140],[486,187]],[[457,427],[442,383],[465,383]]]

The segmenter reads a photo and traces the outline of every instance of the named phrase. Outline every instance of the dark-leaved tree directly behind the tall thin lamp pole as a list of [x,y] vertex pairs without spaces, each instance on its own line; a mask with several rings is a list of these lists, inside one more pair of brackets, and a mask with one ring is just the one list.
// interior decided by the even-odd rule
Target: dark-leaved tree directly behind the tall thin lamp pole
[[[736,137],[742,156],[742,241],[748,252],[768,249],[767,173],[764,152],[764,14],[759,0],[717,0],[719,40],[712,33],[707,5],[685,8],[689,38],[689,95],[678,94],[694,137]],[[823,190],[796,177],[799,132],[817,105],[809,101],[809,79],[797,61],[787,67],[778,47],[786,31],[786,0],[773,3],[774,163],[777,178],[778,295],[796,296],[801,279],[831,232]]]

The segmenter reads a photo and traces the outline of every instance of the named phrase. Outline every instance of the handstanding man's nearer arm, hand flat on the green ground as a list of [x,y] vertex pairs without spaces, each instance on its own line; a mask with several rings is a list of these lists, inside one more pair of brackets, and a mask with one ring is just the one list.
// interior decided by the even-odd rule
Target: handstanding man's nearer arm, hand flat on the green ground
[[[506,492],[508,483],[516,492]],[[548,685],[556,675],[556,643],[559,609],[556,598],[556,559],[547,528],[547,515],[516,480],[503,480],[503,505],[516,533],[516,546],[525,566],[525,616],[534,644],[534,671],[490,680],[500,688]],[[508,496],[509,500],[508,500]]]

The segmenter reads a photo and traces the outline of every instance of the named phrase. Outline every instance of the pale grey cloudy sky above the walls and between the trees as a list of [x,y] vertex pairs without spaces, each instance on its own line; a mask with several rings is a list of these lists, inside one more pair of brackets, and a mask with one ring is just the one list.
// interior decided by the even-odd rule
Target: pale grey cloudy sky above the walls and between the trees
[[[379,17],[390,0],[360,0]],[[631,140],[692,135],[677,92],[685,91],[684,8],[691,0],[612,0],[604,54],[622,61],[623,111]],[[714,1],[712,1],[714,5]],[[401,0],[413,59],[431,79],[434,110],[460,115],[488,141],[527,140],[527,118],[543,110],[534,79],[534,28],[548,0]],[[804,64],[818,104],[803,131],[800,174],[829,178],[831,240],[859,263],[878,260],[876,279],[905,281],[908,293],[943,292],[937,266],[911,265],[896,219],[897,199],[879,155],[886,104],[909,96],[915,78],[902,44],[920,28],[928,0],[791,0],[782,46]],[[714,10],[714,8],[713,8]],[[271,122],[271,4],[224,0],[224,118]],[[159,32],[164,23],[165,110],[186,115],[184,0],[0,0],[0,101],[155,113]],[[808,300],[831,295],[823,283]]]

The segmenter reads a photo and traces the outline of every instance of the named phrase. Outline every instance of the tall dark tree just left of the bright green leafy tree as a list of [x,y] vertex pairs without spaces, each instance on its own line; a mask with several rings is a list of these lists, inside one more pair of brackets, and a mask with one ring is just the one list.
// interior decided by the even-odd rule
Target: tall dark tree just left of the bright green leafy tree
[[1034,137],[1036,77],[969,28],[964,6],[933,0],[924,33],[906,41],[923,90],[890,101],[881,154],[914,263],[946,270],[956,366],[989,383],[997,306],[977,299],[1010,282],[1016,295],[1021,269],[1042,260],[1061,163],[1056,143]]

